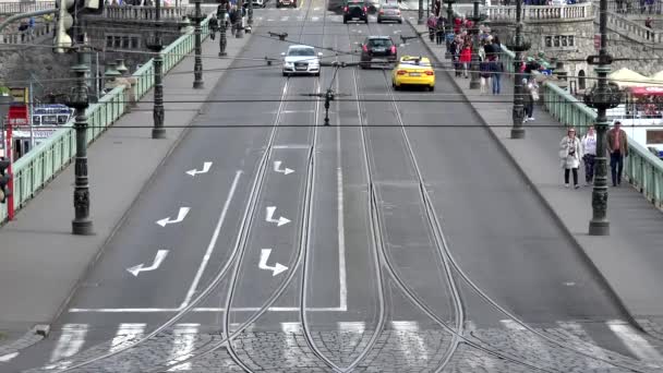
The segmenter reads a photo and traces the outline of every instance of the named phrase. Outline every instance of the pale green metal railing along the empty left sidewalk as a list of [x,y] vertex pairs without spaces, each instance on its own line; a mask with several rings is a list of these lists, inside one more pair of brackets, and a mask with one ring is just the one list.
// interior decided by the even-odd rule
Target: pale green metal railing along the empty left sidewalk
[[[209,35],[209,16],[203,21],[203,39]],[[194,34],[189,32],[164,49],[164,71],[174,68],[194,49]],[[136,98],[143,97],[154,85],[154,65],[149,60],[133,74],[136,84],[133,87]],[[112,123],[122,117],[129,103],[128,93],[120,86],[104,95],[97,104],[87,110],[88,144],[97,140]],[[47,141],[37,145],[13,165],[14,172],[14,209],[19,210],[32,200],[49,181],[51,181],[74,158],[76,153],[76,134],[73,119],[56,131]],[[0,204],[0,224],[7,220],[7,205]]]

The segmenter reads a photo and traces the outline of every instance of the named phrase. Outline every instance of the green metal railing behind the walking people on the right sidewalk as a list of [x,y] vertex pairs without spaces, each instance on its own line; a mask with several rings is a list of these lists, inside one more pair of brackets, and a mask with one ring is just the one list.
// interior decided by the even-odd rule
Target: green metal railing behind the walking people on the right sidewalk
[[[502,48],[505,69],[513,73],[515,55],[504,46]],[[596,121],[596,112],[565,89],[552,82],[544,82],[542,87],[543,106],[563,125],[574,127],[577,133],[583,135],[587,128]],[[629,139],[628,157],[624,171],[628,181],[647,200],[654,206],[663,208],[663,161],[661,159]]]

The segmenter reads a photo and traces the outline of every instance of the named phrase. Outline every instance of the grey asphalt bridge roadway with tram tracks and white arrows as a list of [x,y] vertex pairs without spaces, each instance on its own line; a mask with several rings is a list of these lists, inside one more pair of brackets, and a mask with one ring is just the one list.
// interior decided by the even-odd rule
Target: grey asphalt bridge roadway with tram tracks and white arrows
[[[320,1],[312,0],[311,7],[309,1],[297,10],[258,10],[256,14],[263,17],[261,25],[255,27],[254,37],[240,57],[263,59],[285,51],[288,44],[263,37],[268,31],[288,32],[289,39],[296,41],[300,40],[299,32],[303,31],[301,41],[340,51],[357,49],[357,43],[369,34],[412,34],[407,24],[378,25],[374,17],[369,25],[343,25],[338,15],[329,13],[325,17]],[[298,20],[304,16],[305,23]],[[324,52],[329,55],[327,50]],[[400,56],[406,53],[427,55],[417,41],[399,48]],[[350,61],[357,57],[342,55],[339,59]],[[2,363],[1,372],[16,372],[70,356],[75,361],[75,353],[88,348],[100,354],[108,351],[122,328],[123,335],[131,336],[133,332],[126,330],[133,325],[140,329],[133,336],[140,336],[159,326],[183,303],[190,303],[226,264],[248,202],[255,197],[255,214],[249,221],[250,231],[231,305],[237,309],[230,314],[231,329],[237,328],[264,305],[294,269],[292,258],[302,234],[309,152],[313,145],[316,161],[310,216],[312,238],[306,248],[311,261],[306,320],[313,334],[320,336],[320,339],[314,336],[318,348],[341,366],[360,356],[381,326],[383,304],[377,281],[381,275],[384,330],[379,332],[379,342],[374,351],[357,371],[370,366],[378,371],[407,372],[434,369],[439,364],[438,358],[444,354],[449,334],[406,300],[385,268],[374,264],[376,246],[367,212],[366,158],[370,177],[377,190],[376,214],[384,228],[382,240],[387,254],[402,280],[441,318],[453,325],[455,314],[448,284],[436,256],[432,233],[425,229],[417,172],[406,143],[400,129],[376,125],[399,124],[389,100],[390,84],[385,80],[385,72],[346,68],[338,72],[335,81],[337,89],[352,95],[350,98],[358,92],[362,98],[381,99],[359,104],[338,101],[330,108],[333,124],[367,125],[363,132],[367,157],[363,153],[360,128],[279,128],[267,159],[261,193],[252,196],[251,185],[275,121],[294,125],[322,123],[323,113],[316,113],[320,107],[314,103],[280,104],[278,99],[324,89],[332,83],[333,72],[324,69],[320,80],[287,79],[281,76],[278,64],[266,67],[261,61],[238,59],[233,67],[238,69],[228,72],[212,98],[255,101],[210,104],[196,118],[196,123],[241,127],[194,128],[186,134],[130,212],[85,286],[72,300],[70,312],[56,325],[56,332],[47,341]],[[647,341],[637,340],[635,347],[631,346],[634,338],[627,341],[632,335],[623,332],[627,325],[613,322],[624,320],[624,315],[603,285],[520,180],[515,167],[492,144],[487,132],[475,125],[479,120],[469,105],[445,101],[459,95],[450,79],[444,72],[437,72],[436,80],[435,93],[407,91],[396,93],[396,97],[436,98],[438,101],[399,101],[397,109],[408,127],[425,186],[433,196],[450,251],[460,266],[490,297],[532,327],[557,333],[566,330],[571,336],[624,354],[625,360],[642,359],[648,351],[650,356],[655,354],[655,350],[648,349],[651,346]],[[274,101],[258,101],[261,98]],[[201,170],[206,161],[213,163],[208,172],[195,177],[185,173],[191,169]],[[276,172],[274,161],[281,161],[280,170],[288,167],[293,172]],[[284,216],[290,221],[280,227],[266,221],[266,210],[270,206],[276,207],[275,219]],[[182,207],[190,209],[181,222],[165,227],[156,224],[167,217],[174,219]],[[218,238],[214,240],[216,229]],[[288,269],[277,276],[272,276],[268,269],[260,269],[262,249],[272,249],[267,266],[280,263]],[[141,263],[149,267],[159,250],[168,250],[168,253],[155,269],[140,272],[137,276],[126,270]],[[206,254],[209,257],[205,262]],[[204,267],[203,263],[206,263]],[[226,278],[230,275],[232,272]],[[300,267],[284,296],[273,304],[277,309],[266,312],[238,337],[238,356],[246,359],[244,362],[251,360],[252,369],[311,371],[311,366],[326,366],[321,365],[321,361],[313,361],[311,348],[302,339],[301,276]],[[197,285],[192,287],[196,278]],[[149,356],[155,352],[149,351],[150,348],[160,348],[166,350],[162,354],[168,356],[170,345],[181,345],[179,350],[173,348],[173,357],[188,353],[195,345],[192,340],[204,340],[204,336],[222,330],[228,284],[228,280],[222,281],[209,298],[178,321],[169,329],[172,334],[166,338],[168,342],[137,347],[135,353],[123,358],[122,369],[113,363],[118,359],[109,359],[79,371],[94,371],[95,366],[105,372],[145,371],[144,362],[140,362],[141,353]],[[572,364],[591,365],[583,357],[521,333],[517,323],[493,311],[467,286],[461,286],[460,290],[467,318],[485,342],[516,354],[549,357],[550,361],[542,358],[542,365],[559,364],[562,371],[576,366]],[[182,332],[182,325],[186,332]],[[182,340],[178,340],[178,333]],[[231,368],[231,359],[224,353],[219,351],[201,358],[183,369],[203,372],[207,371],[204,366],[226,366],[228,371],[238,371],[237,365]],[[502,366],[467,350],[458,353],[470,366]],[[280,358],[275,359],[275,356]],[[395,360],[401,365],[394,368]],[[636,364],[635,360],[632,363]],[[502,371],[527,371],[516,364],[504,366],[508,368]]]

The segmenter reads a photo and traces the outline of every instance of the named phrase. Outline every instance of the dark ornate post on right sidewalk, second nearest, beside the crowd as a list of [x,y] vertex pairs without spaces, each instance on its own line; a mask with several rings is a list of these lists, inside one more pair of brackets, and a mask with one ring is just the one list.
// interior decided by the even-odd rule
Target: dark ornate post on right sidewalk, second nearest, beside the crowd
[[522,100],[522,74],[520,67],[522,65],[522,52],[530,49],[530,44],[522,38],[522,0],[516,0],[516,37],[507,45],[509,50],[516,52],[514,61],[514,108],[511,118],[514,127],[511,127],[511,139],[525,139],[525,105]]

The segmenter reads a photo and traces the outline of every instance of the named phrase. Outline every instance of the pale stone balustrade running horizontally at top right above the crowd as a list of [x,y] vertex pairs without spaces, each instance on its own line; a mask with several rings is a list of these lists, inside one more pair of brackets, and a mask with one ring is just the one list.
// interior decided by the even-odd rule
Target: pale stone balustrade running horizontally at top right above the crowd
[[[484,13],[490,21],[516,21],[515,5],[494,5],[484,7]],[[592,20],[594,17],[593,5],[591,2],[580,4],[563,5],[525,5],[522,7],[522,21],[527,23],[535,22],[565,22]]]

